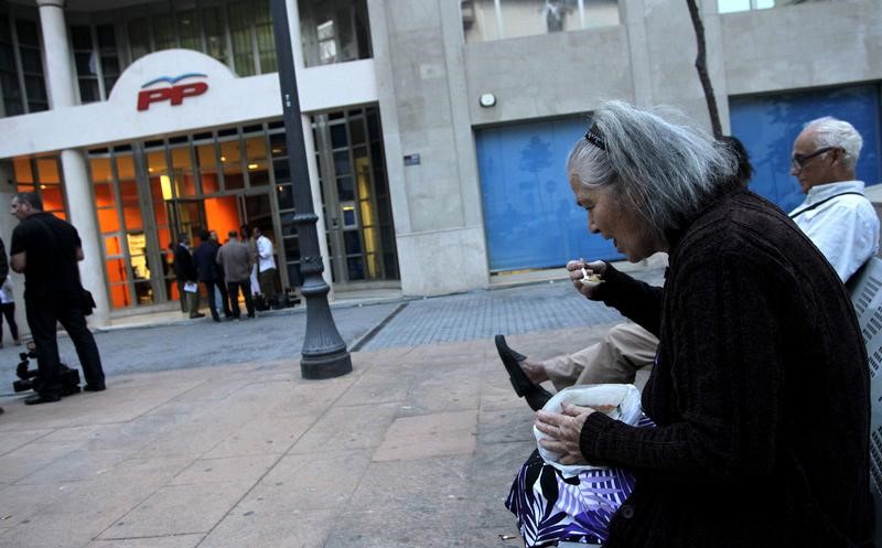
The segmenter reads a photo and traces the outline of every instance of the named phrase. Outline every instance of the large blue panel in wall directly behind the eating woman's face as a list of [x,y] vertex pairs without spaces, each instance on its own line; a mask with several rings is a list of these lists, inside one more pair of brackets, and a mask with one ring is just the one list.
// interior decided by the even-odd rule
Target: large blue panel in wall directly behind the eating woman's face
[[567,182],[567,155],[587,128],[577,117],[475,132],[491,271],[622,258],[611,241],[588,233]]

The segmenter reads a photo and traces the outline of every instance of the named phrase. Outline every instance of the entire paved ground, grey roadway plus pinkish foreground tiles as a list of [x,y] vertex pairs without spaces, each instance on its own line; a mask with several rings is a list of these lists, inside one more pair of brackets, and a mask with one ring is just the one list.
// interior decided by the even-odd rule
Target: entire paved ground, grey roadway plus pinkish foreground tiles
[[103,330],[108,389],[33,407],[0,350],[0,547],[523,546],[533,413],[493,335],[550,357],[621,316],[548,281],[332,311],[353,372],[326,380],[300,375],[302,307]]

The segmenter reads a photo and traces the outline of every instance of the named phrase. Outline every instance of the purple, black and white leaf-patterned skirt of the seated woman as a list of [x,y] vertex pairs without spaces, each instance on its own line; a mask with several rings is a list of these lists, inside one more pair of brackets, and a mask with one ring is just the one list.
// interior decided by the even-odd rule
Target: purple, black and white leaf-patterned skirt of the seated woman
[[[644,416],[639,427],[653,427]],[[603,544],[610,520],[634,491],[634,474],[621,468],[591,469],[563,477],[534,451],[512,484],[505,507],[517,516],[527,548],[560,541]]]

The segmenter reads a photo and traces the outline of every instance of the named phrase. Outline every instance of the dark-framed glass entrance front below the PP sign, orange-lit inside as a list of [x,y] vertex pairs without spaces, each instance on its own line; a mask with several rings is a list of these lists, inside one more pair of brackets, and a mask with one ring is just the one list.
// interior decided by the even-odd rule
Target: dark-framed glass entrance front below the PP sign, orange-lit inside
[[[379,111],[316,115],[313,127],[333,280],[396,280]],[[281,120],[93,149],[89,168],[112,308],[180,300],[178,234],[198,245],[203,228],[223,243],[243,224],[260,227],[275,247],[278,288],[302,283]]]

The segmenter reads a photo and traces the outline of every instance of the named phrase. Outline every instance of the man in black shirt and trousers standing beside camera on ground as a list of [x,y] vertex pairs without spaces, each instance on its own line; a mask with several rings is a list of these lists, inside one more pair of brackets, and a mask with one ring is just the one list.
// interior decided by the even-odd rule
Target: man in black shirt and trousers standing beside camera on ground
[[76,228],[43,213],[43,202],[34,192],[20,192],[12,197],[12,215],[20,223],[12,232],[9,252],[12,270],[24,273],[24,310],[36,347],[40,378],[36,396],[24,402],[46,404],[62,397],[57,323],[74,343],[86,379],[84,389],[104,390],[101,357],[83,311],[77,261],[85,256]]

